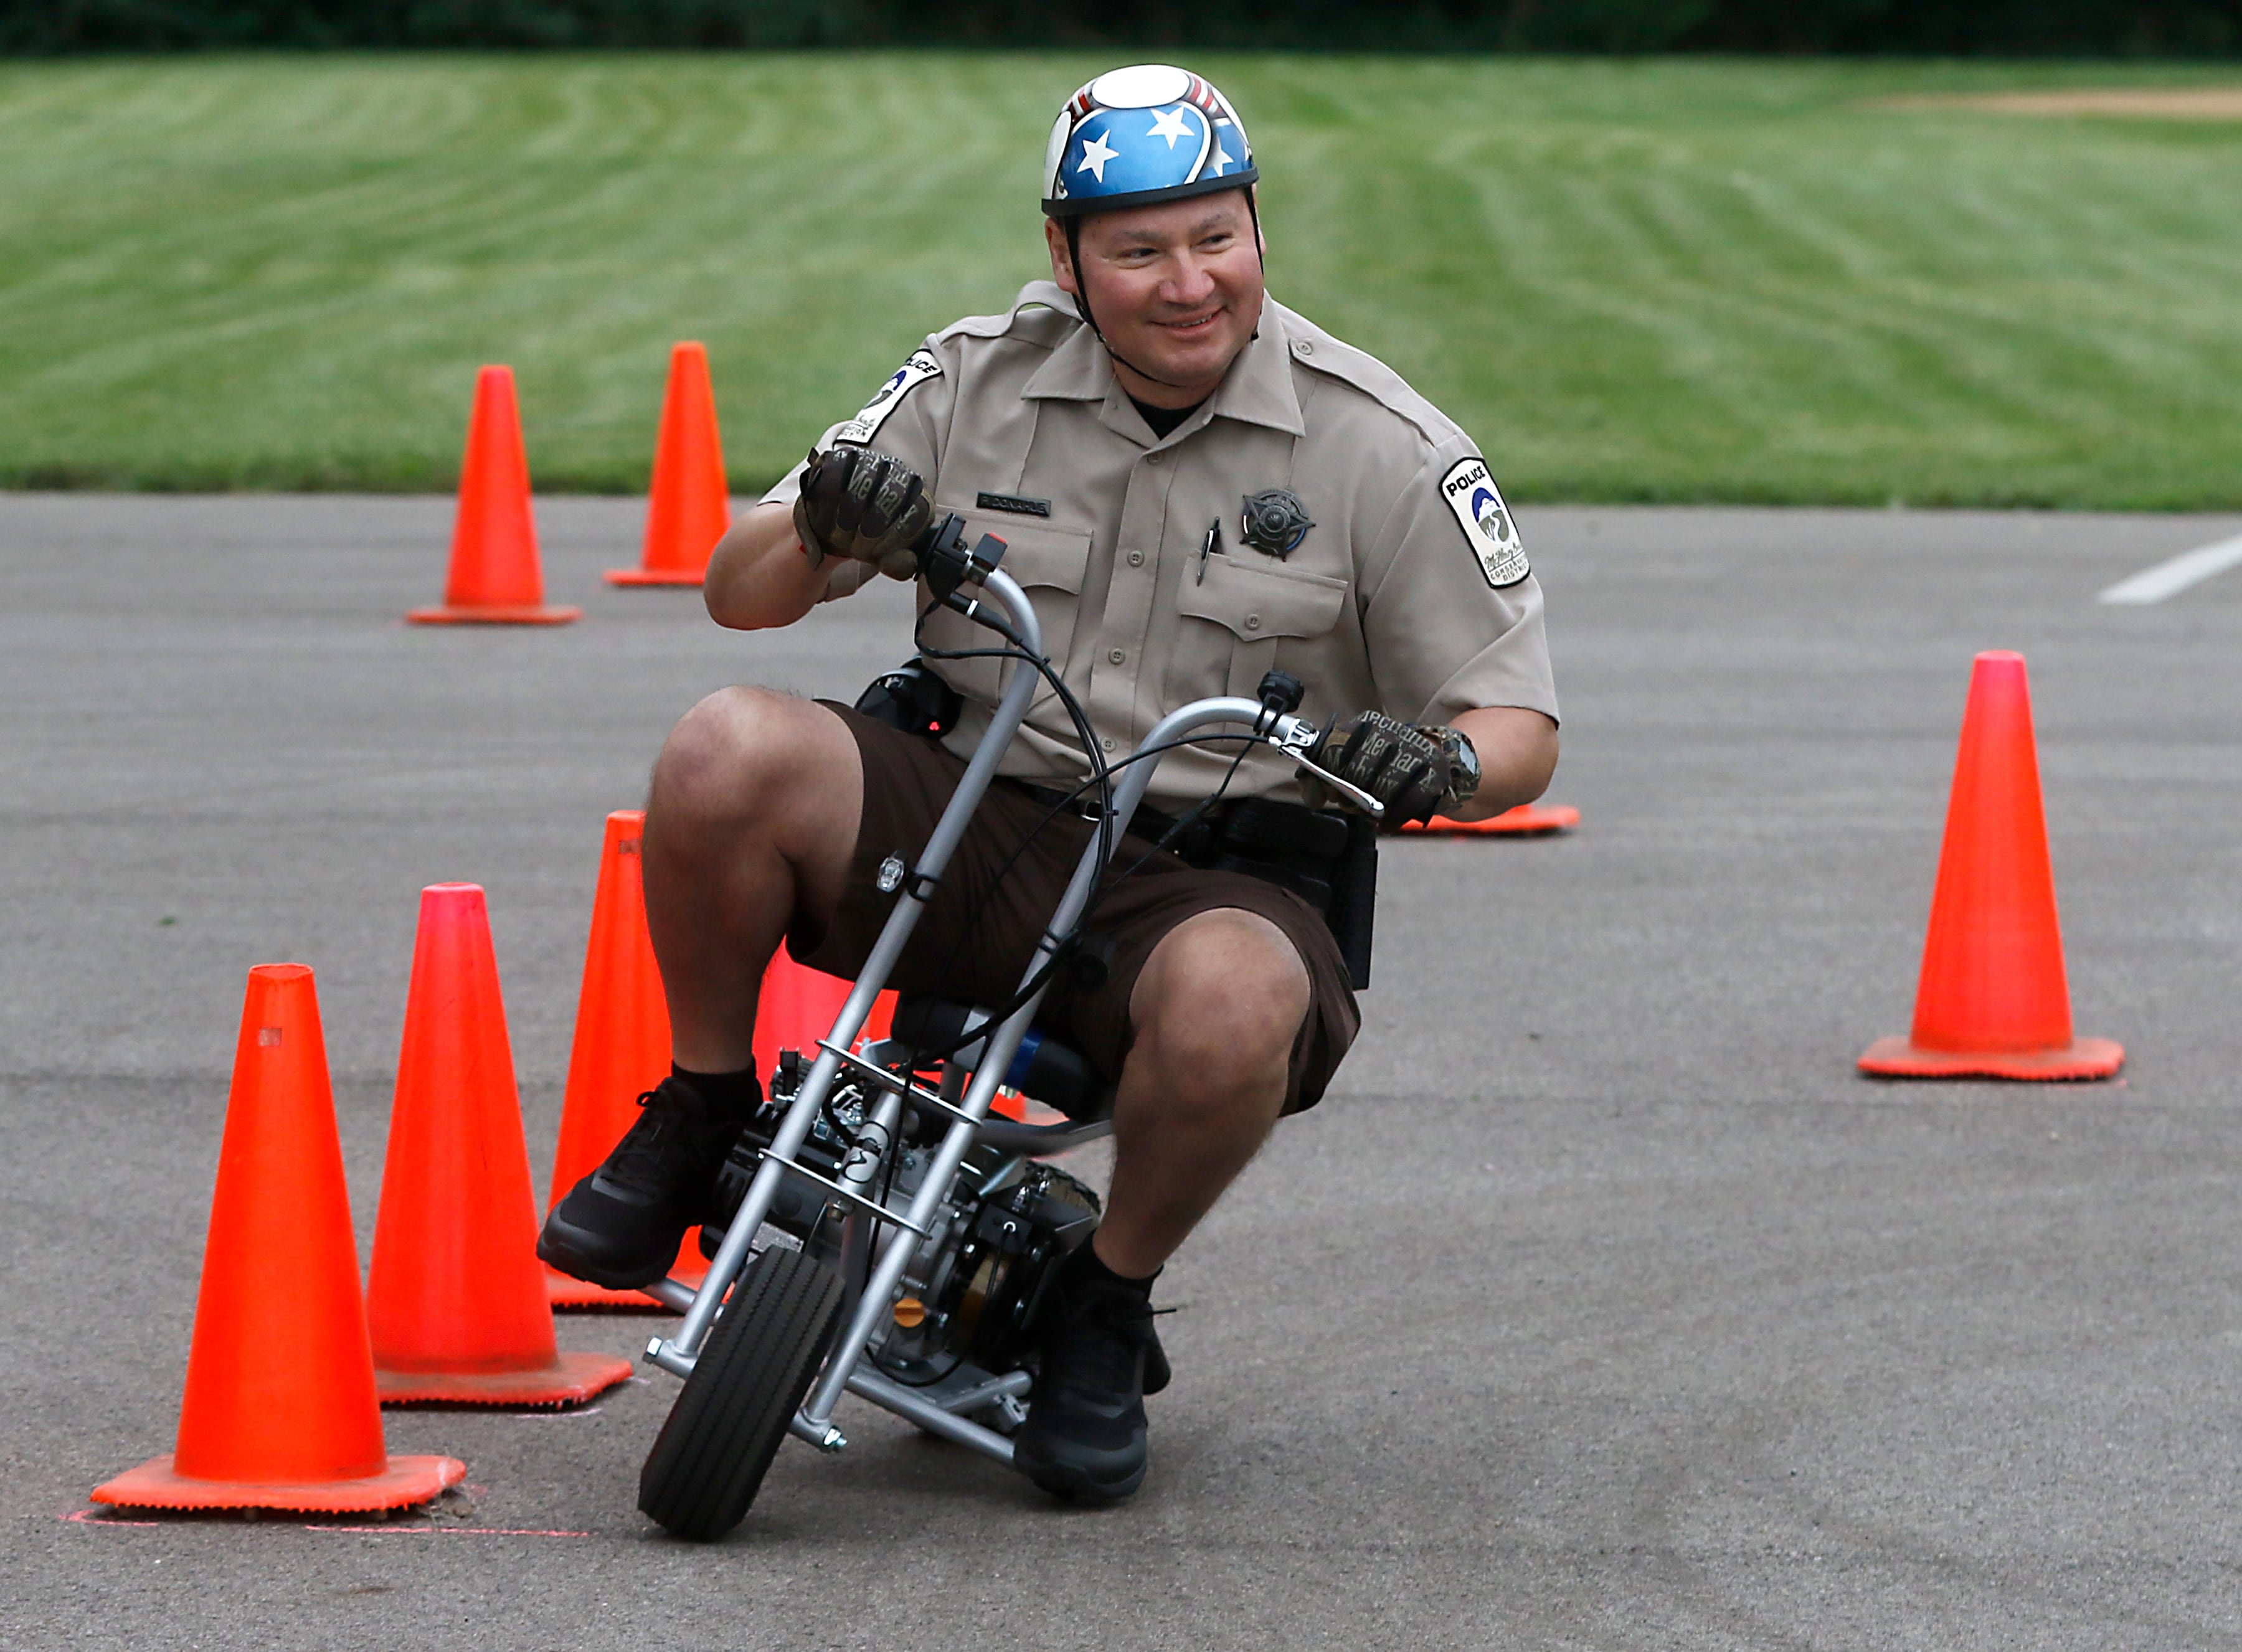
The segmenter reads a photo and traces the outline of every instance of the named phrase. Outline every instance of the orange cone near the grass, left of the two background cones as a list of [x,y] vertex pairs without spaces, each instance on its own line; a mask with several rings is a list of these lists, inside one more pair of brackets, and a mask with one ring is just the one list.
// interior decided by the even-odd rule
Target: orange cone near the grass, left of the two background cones
[[565,625],[581,616],[581,607],[545,607],[513,368],[484,368],[466,424],[444,605],[415,607],[406,619],[415,625]]

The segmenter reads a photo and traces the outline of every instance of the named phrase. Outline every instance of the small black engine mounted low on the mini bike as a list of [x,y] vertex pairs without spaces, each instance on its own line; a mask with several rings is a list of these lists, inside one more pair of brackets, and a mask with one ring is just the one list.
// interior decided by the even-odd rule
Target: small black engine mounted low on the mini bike
[[[800,1056],[785,1051],[771,1080],[771,1098],[742,1132],[717,1177],[702,1219],[704,1255],[713,1257],[724,1242],[762,1163],[762,1150],[805,1076]],[[868,1112],[863,1089],[843,1076],[796,1157],[839,1181]],[[917,1192],[939,1139],[935,1127],[912,1132],[908,1121],[910,1114],[904,1139],[888,1148],[872,1181],[888,1206],[904,1206]],[[789,1177],[778,1188],[767,1224],[798,1240],[807,1255],[841,1266],[845,1215],[845,1206],[827,1204],[818,1188]],[[1087,1242],[1096,1224],[1099,1195],[1078,1177],[986,1143],[975,1145],[957,1170],[951,1197],[937,1206],[933,1237],[919,1242],[904,1269],[890,1329],[874,1340],[872,1358],[910,1385],[937,1383],[964,1365],[993,1376],[1018,1370],[1058,1262]],[[852,1284],[861,1287],[861,1280]]]

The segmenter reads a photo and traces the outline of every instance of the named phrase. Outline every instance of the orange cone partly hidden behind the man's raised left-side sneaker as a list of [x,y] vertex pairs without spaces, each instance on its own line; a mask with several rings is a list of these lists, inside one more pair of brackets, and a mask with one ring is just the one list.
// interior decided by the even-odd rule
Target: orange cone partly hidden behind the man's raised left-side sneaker
[[[617,809],[608,816],[549,1204],[560,1204],[569,1188],[599,1168],[637,1119],[637,1096],[670,1071],[670,1011],[661,997],[652,941],[646,939],[646,883],[639,876],[643,832],[641,809]],[[670,1278],[693,1284],[706,1271],[700,1228],[693,1228],[677,1251]],[[545,1269],[545,1293],[554,1307],[668,1311],[643,1291],[610,1291],[556,1269]]]

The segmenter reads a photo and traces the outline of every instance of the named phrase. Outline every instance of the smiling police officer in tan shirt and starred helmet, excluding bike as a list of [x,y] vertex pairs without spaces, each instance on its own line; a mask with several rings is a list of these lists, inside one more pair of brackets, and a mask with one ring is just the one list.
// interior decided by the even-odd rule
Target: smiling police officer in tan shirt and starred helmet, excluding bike
[[[1137,65],[1058,114],[1043,168],[1051,280],[935,334],[749,511],[708,563],[722,625],[791,625],[915,576],[937,511],[1007,542],[1043,641],[1125,758],[1175,706],[1307,684],[1325,767],[1386,820],[1484,818],[1540,796],[1556,695],[1540,590],[1471,439],[1399,374],[1262,291],[1258,170],[1206,81]],[[924,603],[921,603],[924,605]],[[886,919],[877,867],[910,859],[989,722],[1007,666],[951,612],[926,621],[964,711],[939,740],[760,688],[695,706],[646,811],[646,908],[675,1071],[547,1222],[540,1253],[612,1287],[664,1273],[760,1103],[753,1011],[780,939],[854,975]],[[1148,805],[1298,800],[1273,753],[1168,755]],[[1036,699],[892,984],[1002,1002],[1087,823],[1054,798],[1092,769],[1056,693]],[[1321,798],[1312,798],[1321,802]],[[1314,1105],[1359,1027],[1325,921],[1298,894],[1130,841],[1137,870],[1085,919],[1103,971],[1045,1024],[1114,1076],[1114,1170],[1043,1316],[1016,1461],[1060,1495],[1125,1497],[1143,1394],[1168,1381],[1150,1287],[1280,1114]]]

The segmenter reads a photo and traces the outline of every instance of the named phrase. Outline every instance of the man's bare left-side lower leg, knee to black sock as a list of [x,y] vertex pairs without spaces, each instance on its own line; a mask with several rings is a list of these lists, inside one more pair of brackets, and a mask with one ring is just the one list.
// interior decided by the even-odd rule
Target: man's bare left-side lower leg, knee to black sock
[[856,740],[825,706],[724,688],[684,715],[646,800],[646,928],[688,1071],[756,1060],[762,971],[832,919],[863,816]]

